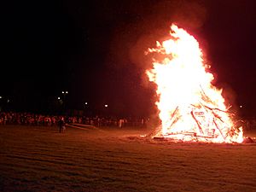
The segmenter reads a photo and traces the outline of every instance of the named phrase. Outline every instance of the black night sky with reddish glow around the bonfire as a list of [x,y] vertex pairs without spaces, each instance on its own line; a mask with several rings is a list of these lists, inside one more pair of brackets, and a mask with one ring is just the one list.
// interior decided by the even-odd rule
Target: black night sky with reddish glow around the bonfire
[[175,22],[199,40],[230,104],[253,115],[255,9],[253,0],[2,3],[0,95],[17,110],[42,111],[68,90],[68,108],[153,113],[144,51]]

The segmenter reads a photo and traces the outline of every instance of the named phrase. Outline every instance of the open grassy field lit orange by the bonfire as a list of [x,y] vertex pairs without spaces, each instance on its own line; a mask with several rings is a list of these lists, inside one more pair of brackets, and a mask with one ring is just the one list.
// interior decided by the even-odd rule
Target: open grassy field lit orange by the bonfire
[[1,125],[0,191],[256,191],[255,143],[139,137],[149,132]]

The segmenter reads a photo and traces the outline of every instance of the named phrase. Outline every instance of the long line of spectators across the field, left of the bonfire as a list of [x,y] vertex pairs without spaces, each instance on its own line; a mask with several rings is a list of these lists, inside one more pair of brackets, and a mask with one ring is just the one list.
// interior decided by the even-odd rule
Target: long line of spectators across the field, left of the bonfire
[[68,115],[44,115],[35,113],[1,112],[0,125],[38,125],[57,126],[61,120],[65,124],[84,124],[92,126],[146,126],[145,118],[118,118],[118,117],[87,117]]

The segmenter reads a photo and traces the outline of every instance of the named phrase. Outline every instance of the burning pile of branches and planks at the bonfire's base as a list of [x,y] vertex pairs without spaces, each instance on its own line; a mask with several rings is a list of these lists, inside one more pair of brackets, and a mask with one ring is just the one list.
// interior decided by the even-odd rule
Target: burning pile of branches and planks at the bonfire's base
[[[202,103],[198,106],[191,105],[189,110],[190,114],[188,113],[188,115],[190,115],[192,124],[192,126],[189,126],[190,129],[175,130],[175,124],[182,118],[177,107],[172,113],[172,124],[161,137],[181,141],[219,143],[227,140],[231,142],[232,137],[239,136],[237,132],[242,131],[241,128],[238,130],[236,127],[230,128],[229,125],[225,124],[224,120],[222,120],[222,113],[227,113],[228,115],[232,114],[228,111],[223,111],[219,108],[210,108]],[[234,142],[237,142],[237,140]]]

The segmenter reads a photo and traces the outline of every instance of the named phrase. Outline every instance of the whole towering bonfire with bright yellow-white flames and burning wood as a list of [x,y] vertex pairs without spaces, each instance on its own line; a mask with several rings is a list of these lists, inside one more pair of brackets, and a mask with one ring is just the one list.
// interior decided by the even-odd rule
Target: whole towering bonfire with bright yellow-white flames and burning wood
[[224,104],[222,90],[211,82],[212,73],[203,60],[196,39],[175,25],[171,39],[149,52],[164,55],[147,71],[149,81],[157,84],[161,129],[156,137],[183,141],[241,143],[242,129],[236,128]]

